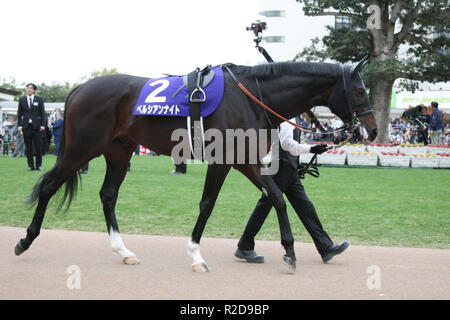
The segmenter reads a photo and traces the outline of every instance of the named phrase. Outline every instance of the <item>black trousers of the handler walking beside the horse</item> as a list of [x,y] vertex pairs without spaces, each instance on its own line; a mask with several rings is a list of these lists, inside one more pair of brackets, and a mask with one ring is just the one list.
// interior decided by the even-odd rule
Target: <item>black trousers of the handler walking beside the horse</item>
[[[297,170],[289,164],[280,161],[280,168],[272,178],[281,192],[286,195],[292,207],[294,207],[295,212],[312,237],[319,254],[323,255],[326,253],[333,245],[333,241],[331,241],[328,234],[323,230],[316,209],[306,195],[303,185],[300,183]],[[263,194],[256,204],[244,233],[239,240],[239,249],[254,250],[255,236],[264,224],[272,206],[271,199]]]

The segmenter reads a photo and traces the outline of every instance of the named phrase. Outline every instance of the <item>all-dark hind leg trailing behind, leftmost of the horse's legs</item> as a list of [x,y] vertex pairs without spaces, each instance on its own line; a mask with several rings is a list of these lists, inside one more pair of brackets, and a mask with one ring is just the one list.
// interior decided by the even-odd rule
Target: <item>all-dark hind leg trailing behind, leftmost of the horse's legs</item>
[[[77,167],[78,164],[78,167]],[[36,211],[33,216],[33,220],[30,226],[27,228],[27,235],[25,238],[20,239],[15,246],[15,254],[21,255],[25,250],[28,250],[31,243],[39,236],[42,221],[44,220],[45,211],[47,209],[48,202],[61,185],[69,180],[76,182],[77,170],[83,163],[74,163],[70,160],[70,157],[64,157],[61,161],[55,164],[55,166],[42,176],[42,180],[39,181],[31,194],[31,199],[38,200]],[[76,185],[72,184],[72,187],[76,188]],[[70,200],[70,199],[69,199]]]

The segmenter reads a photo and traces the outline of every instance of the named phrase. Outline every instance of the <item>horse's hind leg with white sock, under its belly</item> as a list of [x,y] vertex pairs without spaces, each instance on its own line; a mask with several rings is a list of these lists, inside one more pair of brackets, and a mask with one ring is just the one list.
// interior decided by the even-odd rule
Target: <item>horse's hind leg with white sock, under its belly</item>
[[139,260],[133,252],[125,247],[122,241],[116,220],[115,207],[120,185],[125,178],[128,162],[135,148],[136,145],[132,145],[131,141],[125,143],[115,141],[112,143],[108,152],[105,153],[107,169],[105,180],[100,190],[100,199],[103,204],[111,248],[122,257],[122,261],[125,264],[138,264]]

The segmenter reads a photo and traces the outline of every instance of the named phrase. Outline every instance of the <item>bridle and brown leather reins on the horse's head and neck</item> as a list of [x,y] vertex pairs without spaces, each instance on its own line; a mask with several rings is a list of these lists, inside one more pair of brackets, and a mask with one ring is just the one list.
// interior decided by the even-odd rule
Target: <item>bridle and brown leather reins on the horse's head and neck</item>
[[[247,88],[245,88],[245,86],[236,78],[236,76],[234,75],[234,73],[231,71],[231,69],[229,68],[228,64],[224,65],[225,69],[228,71],[228,73],[230,74],[231,78],[234,80],[234,82],[236,82],[236,85],[250,98],[252,99],[254,102],[256,102],[256,104],[258,104],[260,107],[262,107],[264,110],[270,112],[271,114],[273,114],[275,117],[279,118],[280,120],[283,120],[287,123],[289,123],[290,125],[296,127],[297,129],[306,132],[306,133],[313,133],[315,134],[316,132],[312,131],[311,129],[305,128],[295,122],[290,121],[289,119],[283,117],[281,114],[277,113],[276,111],[272,110],[271,108],[269,108],[267,105],[265,105],[260,99],[256,98]],[[369,110],[365,110],[363,112],[359,112],[359,111],[354,111],[354,103],[353,103],[353,99],[352,99],[352,93],[348,90],[348,86],[347,86],[347,80],[345,77],[345,69],[344,67],[341,65],[341,70],[342,70],[342,85],[343,85],[343,89],[344,89],[344,93],[345,93],[345,97],[346,97],[346,102],[347,102],[347,106],[349,108],[349,112],[352,116],[351,121],[344,123],[343,126],[327,132],[326,134],[334,134],[334,133],[338,133],[338,132],[342,132],[342,131],[347,131],[350,132],[350,134],[348,135],[347,139],[344,142],[341,142],[338,146],[336,146],[335,148],[339,148],[342,145],[344,145],[345,143],[347,143],[348,141],[350,141],[350,139],[355,135],[356,130],[359,130],[359,128],[362,126],[361,121],[359,120],[359,116],[368,114],[368,113],[372,113],[374,112],[372,109]],[[258,81],[256,79],[256,83],[258,85],[258,91],[260,91],[259,89],[259,84]],[[330,108],[330,110],[333,111],[333,108],[330,106],[330,103],[332,103],[333,101],[333,97],[335,96],[335,93],[337,92],[337,88],[334,89],[333,94],[330,96],[330,99],[328,101],[328,108]],[[261,93],[260,93],[261,96]],[[335,113],[335,112],[333,112]],[[336,114],[336,113],[335,113]]]

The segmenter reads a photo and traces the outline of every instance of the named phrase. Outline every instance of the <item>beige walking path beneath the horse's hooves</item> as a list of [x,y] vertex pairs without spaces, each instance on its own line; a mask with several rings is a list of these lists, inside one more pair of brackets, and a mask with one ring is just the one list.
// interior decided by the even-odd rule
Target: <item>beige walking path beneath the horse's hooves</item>
[[[257,241],[266,262],[249,264],[233,256],[237,240],[204,238],[211,272],[197,274],[183,237],[122,235],[141,261],[132,266],[111,251],[106,233],[42,230],[16,257],[24,235],[0,227],[0,299],[450,299],[450,250],[350,246],[323,264],[312,244],[296,243],[291,274],[278,242]],[[80,289],[67,287],[73,265]]]

